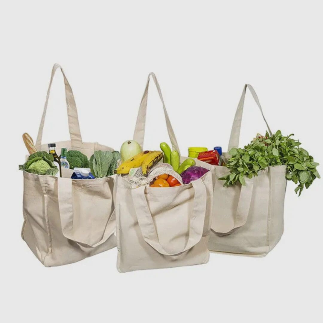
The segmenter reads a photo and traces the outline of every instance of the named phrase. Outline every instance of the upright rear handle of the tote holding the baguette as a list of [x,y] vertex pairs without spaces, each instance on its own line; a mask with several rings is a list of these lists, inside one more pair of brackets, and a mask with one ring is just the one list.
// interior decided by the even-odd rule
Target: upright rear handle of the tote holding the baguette
[[62,74],[64,77],[65,96],[66,96],[67,115],[68,115],[68,128],[69,128],[70,138],[71,138],[72,142],[74,141],[77,144],[77,146],[79,146],[79,144],[82,143],[80,127],[78,124],[78,112],[76,109],[76,104],[75,104],[72,88],[68,83],[68,80],[65,76],[63,68],[58,64],[54,64],[53,69],[52,69],[52,75],[51,75],[49,86],[48,86],[48,90],[47,90],[44,112],[43,112],[43,116],[40,121],[37,140],[36,140],[36,149],[37,150],[40,150],[40,146],[41,146],[41,140],[43,137],[43,128],[44,128],[45,116],[46,116],[48,99],[49,99],[49,94],[50,94],[50,88],[52,86],[53,78],[54,78],[57,68],[59,68],[62,71]]

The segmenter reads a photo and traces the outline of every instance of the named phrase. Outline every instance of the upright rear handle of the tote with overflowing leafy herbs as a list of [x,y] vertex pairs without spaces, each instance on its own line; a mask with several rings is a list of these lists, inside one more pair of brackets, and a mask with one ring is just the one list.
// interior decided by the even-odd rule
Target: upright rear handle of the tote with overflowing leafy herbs
[[243,113],[243,107],[244,107],[244,103],[245,103],[245,92],[246,89],[249,89],[253,98],[255,99],[257,106],[260,109],[260,112],[266,122],[269,134],[272,136],[272,132],[268,126],[268,123],[265,119],[263,110],[261,108],[261,105],[259,103],[259,99],[257,97],[257,94],[254,90],[254,88],[250,85],[250,84],[245,84],[244,89],[242,91],[242,95],[237,107],[237,111],[235,112],[235,116],[234,116],[234,120],[233,120],[233,125],[232,125],[232,129],[231,129],[231,135],[230,135],[230,141],[229,141],[229,147],[228,147],[228,151],[230,151],[231,148],[237,148],[239,146],[239,138],[240,138],[240,130],[241,130],[241,121],[242,121],[242,113]]

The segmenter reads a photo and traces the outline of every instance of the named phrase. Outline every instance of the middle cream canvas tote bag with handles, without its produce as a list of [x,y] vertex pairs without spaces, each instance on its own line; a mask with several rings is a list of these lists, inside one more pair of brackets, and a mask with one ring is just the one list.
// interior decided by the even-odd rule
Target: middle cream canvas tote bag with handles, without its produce
[[[133,139],[143,148],[148,86],[154,80],[161,99],[173,150],[178,144],[153,73],[149,74]],[[182,161],[185,157],[182,157]],[[189,184],[131,189],[121,176],[116,180],[117,268],[120,272],[204,264],[212,213],[212,174]]]

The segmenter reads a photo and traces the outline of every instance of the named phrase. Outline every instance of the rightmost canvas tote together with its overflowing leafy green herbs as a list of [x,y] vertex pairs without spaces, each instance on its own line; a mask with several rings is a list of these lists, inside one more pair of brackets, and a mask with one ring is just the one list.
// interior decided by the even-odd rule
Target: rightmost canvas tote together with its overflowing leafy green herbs
[[[238,148],[246,89],[266,122],[268,132],[245,148]],[[209,249],[235,254],[266,255],[284,230],[287,180],[298,184],[299,194],[319,178],[318,163],[300,143],[281,131],[273,134],[255,90],[246,84],[231,130],[226,166],[212,166],[214,208]]]

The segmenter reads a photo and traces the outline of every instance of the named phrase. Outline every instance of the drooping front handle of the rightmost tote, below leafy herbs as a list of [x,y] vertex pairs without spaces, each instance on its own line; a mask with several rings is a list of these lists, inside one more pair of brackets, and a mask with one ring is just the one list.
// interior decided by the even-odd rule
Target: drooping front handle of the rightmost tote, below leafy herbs
[[245,179],[245,185],[241,185],[240,197],[237,207],[237,213],[235,214],[234,224],[225,229],[216,228],[215,224],[211,225],[211,229],[216,233],[228,234],[232,230],[243,226],[248,219],[248,214],[251,205],[251,198],[254,187],[254,179]]

